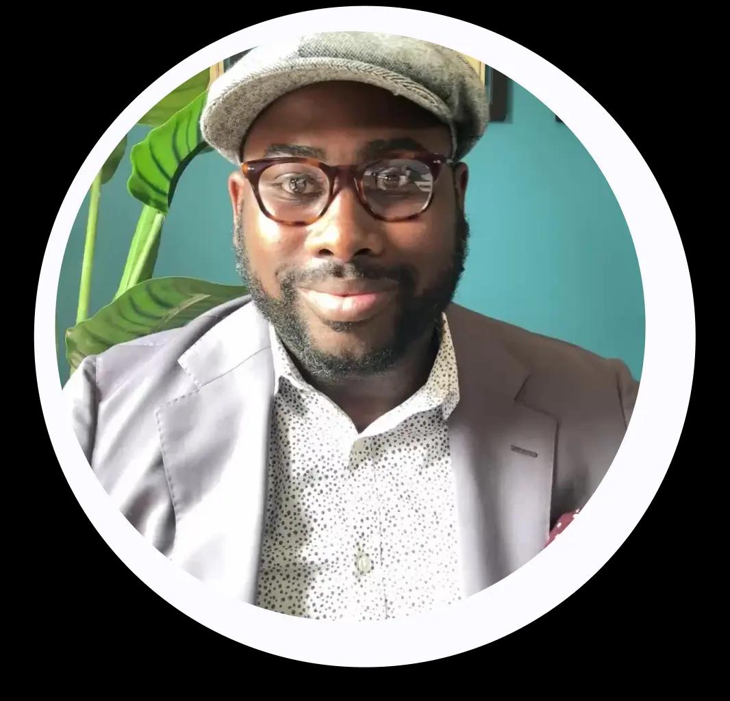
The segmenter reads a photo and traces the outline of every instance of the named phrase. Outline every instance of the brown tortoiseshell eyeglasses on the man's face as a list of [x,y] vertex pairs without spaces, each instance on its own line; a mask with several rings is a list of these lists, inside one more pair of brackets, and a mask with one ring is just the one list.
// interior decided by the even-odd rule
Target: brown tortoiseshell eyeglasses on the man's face
[[280,224],[316,222],[337,194],[337,176],[353,179],[358,199],[380,220],[400,222],[426,212],[443,166],[434,153],[399,153],[356,166],[328,166],[313,158],[262,158],[241,164],[266,217]]

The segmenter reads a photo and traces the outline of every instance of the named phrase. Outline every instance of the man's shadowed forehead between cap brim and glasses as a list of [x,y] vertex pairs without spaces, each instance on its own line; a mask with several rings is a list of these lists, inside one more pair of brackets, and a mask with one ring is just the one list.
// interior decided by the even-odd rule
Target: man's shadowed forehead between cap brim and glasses
[[244,156],[263,158],[272,145],[296,144],[327,160],[399,142],[450,154],[447,126],[412,101],[372,85],[326,82],[287,93],[264,110],[247,133]]

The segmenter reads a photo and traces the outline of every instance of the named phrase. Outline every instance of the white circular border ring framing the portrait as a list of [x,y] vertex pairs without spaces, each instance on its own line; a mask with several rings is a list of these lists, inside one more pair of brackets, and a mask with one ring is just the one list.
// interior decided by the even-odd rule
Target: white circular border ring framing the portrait
[[[342,30],[408,34],[472,55],[561,115],[596,160],[626,217],[646,311],[634,417],[607,476],[572,527],[515,573],[457,605],[372,624],[299,619],[228,599],[150,548],[89,469],[61,396],[55,357],[56,291],[74,218],[101,164],[139,116],[229,55],[301,31]],[[669,206],[628,136],[583,88],[519,44],[461,20],[412,9],[336,7],[277,18],[220,39],[174,66],[119,115],[88,155],[55,220],[39,279],[34,342],[42,409],[61,468],[96,530],[128,568],[221,635],[291,659],[359,667],[424,662],[483,646],[555,608],[607,562],[648,508],[677,447],[694,373],[695,326],[689,272]]]

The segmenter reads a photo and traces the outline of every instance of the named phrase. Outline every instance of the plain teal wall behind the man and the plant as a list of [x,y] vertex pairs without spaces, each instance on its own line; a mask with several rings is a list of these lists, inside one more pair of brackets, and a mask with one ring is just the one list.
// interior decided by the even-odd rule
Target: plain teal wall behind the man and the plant
[[[637,379],[644,356],[644,300],[629,229],[596,163],[550,110],[510,83],[508,121],[489,125],[466,159],[471,239],[456,301],[537,333],[626,361]],[[131,144],[144,138],[137,126]],[[239,284],[226,180],[215,153],[191,163],[175,193],[155,276]],[[122,274],[141,204],[126,192],[128,152],[104,185],[91,313]],[[64,330],[74,325],[88,202],[72,228],[58,282],[58,368],[69,376]]]

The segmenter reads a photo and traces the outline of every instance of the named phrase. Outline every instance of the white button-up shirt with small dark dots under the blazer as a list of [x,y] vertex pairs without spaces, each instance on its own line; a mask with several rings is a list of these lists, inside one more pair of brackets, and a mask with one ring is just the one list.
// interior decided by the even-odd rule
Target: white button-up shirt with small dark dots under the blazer
[[270,331],[276,390],[259,606],[377,621],[461,598],[447,429],[458,378],[442,319],[426,384],[362,433],[304,382]]

